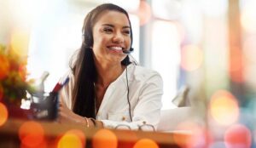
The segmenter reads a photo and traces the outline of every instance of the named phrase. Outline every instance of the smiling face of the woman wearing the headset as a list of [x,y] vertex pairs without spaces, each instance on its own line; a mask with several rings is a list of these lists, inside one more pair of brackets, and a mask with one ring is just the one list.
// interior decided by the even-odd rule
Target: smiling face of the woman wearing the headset
[[102,12],[92,34],[93,52],[100,63],[120,63],[126,56],[123,50],[131,48],[131,26],[126,15],[120,12]]

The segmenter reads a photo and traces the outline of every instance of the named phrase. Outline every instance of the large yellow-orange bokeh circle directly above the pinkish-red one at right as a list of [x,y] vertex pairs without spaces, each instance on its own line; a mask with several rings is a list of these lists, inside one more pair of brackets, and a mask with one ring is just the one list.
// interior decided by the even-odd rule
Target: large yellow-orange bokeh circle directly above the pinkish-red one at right
[[221,125],[230,125],[239,117],[239,106],[235,97],[226,90],[218,90],[212,95],[210,113]]

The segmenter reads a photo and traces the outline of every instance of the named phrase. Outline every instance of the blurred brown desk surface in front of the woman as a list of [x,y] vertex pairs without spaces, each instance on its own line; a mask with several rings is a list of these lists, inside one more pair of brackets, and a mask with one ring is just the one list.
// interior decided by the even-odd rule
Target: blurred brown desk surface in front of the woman
[[[92,139],[96,133],[102,128],[84,128],[76,124],[60,124],[58,122],[38,122],[38,121],[24,121],[20,119],[9,119],[2,126],[0,126],[0,147],[24,147],[21,146],[19,130],[20,126],[25,122],[37,122],[42,126],[44,131],[44,146],[43,147],[58,147],[57,141],[61,139],[67,131],[77,129],[84,134],[86,141],[84,141],[86,148],[93,147]],[[104,128],[106,129],[106,128]],[[27,129],[29,131],[31,129]],[[35,129],[36,130],[36,129]],[[118,139],[118,147],[128,148],[133,147],[140,139],[151,139],[160,148],[184,147],[188,141],[190,134],[172,132],[143,132],[130,130],[109,129]],[[178,144],[177,144],[178,143]],[[42,145],[41,145],[42,146]],[[37,146],[38,147],[38,146]],[[40,147],[40,146],[39,146]]]

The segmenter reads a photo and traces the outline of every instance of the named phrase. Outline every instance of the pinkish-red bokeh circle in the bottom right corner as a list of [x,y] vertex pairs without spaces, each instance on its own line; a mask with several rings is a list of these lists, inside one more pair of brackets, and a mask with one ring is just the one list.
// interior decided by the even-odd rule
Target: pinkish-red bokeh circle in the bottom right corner
[[244,125],[235,124],[225,131],[224,141],[227,148],[250,148],[252,143],[252,134]]

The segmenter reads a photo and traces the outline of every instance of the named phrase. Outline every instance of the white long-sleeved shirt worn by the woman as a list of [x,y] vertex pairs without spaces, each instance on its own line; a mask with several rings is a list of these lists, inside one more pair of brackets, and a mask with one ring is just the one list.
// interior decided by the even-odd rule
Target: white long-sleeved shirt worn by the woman
[[[60,96],[63,103],[72,110],[74,77],[71,71],[67,76],[70,81],[61,89]],[[132,122],[127,101],[126,78],[129,85]],[[108,86],[96,119],[102,121],[105,128],[116,128],[120,124],[125,124],[131,129],[137,129],[144,123],[156,128],[160,122],[162,94],[163,81],[158,72],[138,65],[128,65],[127,77],[125,70]]]

